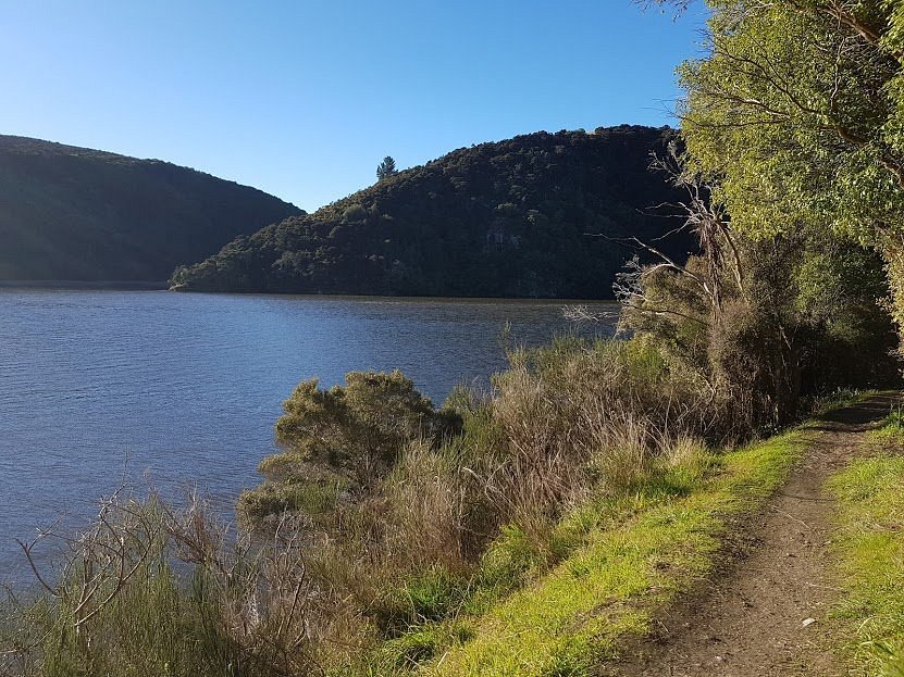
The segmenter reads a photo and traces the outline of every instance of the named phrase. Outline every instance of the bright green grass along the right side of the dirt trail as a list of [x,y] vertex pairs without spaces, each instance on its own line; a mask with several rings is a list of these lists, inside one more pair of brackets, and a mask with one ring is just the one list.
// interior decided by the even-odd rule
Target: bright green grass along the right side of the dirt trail
[[855,675],[904,677],[904,417],[867,437],[869,455],[833,475],[833,541],[844,589],[833,617]]

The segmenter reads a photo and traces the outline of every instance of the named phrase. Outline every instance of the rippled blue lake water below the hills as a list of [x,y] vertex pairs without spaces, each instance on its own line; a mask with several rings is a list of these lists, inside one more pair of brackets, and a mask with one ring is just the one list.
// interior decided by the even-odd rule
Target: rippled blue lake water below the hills
[[299,380],[400,368],[436,403],[486,384],[506,323],[527,344],[574,330],[558,302],[0,289],[0,579],[23,572],[13,539],[84,521],[124,474],[228,511]]

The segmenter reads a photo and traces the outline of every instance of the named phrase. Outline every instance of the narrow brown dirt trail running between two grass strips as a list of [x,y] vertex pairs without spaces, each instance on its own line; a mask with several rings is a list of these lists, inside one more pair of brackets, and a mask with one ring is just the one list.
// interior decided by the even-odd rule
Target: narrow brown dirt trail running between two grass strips
[[[812,426],[812,443],[722,572],[660,618],[654,637],[607,666],[620,677],[846,674],[821,622],[837,590],[826,572],[832,504],[822,484],[857,453],[864,431],[900,400],[879,396]],[[804,622],[815,619],[804,627]]]

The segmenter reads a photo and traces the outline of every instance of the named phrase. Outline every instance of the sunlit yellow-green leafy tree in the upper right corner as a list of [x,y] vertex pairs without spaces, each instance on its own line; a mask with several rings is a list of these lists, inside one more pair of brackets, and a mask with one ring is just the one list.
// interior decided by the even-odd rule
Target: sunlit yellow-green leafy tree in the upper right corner
[[904,325],[904,2],[707,4],[709,55],[680,70],[690,170],[742,234],[878,251]]

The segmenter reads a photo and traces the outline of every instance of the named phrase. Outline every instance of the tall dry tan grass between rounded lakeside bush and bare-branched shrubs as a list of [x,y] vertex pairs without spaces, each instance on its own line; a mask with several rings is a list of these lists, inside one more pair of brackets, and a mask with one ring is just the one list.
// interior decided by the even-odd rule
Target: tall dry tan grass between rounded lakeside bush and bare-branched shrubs
[[705,390],[641,340],[518,352],[495,385],[503,435],[484,473],[500,521],[529,532],[643,481],[676,440],[711,426]]

